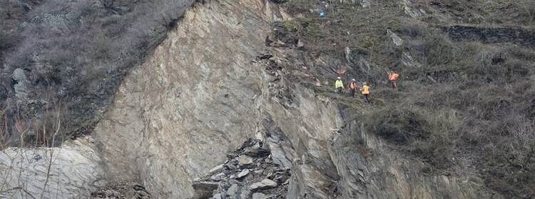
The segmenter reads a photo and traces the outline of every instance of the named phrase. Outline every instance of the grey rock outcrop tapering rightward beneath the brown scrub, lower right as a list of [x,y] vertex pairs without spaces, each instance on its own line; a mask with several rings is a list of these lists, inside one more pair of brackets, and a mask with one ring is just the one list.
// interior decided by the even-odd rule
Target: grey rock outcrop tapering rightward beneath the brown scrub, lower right
[[342,198],[502,198],[477,173],[425,173],[421,160],[399,153],[362,126],[347,123],[330,148]]

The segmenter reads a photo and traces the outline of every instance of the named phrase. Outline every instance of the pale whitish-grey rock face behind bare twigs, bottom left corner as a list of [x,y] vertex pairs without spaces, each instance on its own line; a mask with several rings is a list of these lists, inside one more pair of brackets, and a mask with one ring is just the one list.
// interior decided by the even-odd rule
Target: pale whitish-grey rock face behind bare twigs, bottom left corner
[[6,148],[0,153],[0,198],[86,198],[106,183],[94,148],[91,138],[60,148]]

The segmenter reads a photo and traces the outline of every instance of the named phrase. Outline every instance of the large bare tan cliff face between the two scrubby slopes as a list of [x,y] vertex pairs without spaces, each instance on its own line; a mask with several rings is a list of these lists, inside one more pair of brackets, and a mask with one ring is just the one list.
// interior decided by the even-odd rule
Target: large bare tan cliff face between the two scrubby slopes
[[190,197],[193,178],[259,131],[262,68],[251,59],[270,9],[221,1],[185,13],[96,127],[112,175],[143,181],[157,198]]

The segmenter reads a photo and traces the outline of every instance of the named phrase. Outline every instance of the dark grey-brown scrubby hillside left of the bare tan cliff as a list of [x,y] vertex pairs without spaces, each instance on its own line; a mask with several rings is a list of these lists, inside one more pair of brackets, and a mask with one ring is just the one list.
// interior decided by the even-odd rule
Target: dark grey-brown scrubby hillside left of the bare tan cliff
[[58,121],[56,141],[91,131],[123,76],[192,3],[1,1],[1,142],[49,145]]

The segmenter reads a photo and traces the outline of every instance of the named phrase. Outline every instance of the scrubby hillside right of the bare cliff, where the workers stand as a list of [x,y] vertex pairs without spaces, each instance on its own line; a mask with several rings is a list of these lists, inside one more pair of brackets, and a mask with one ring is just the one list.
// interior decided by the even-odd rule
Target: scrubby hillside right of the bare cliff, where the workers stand
[[[337,56],[344,62],[332,64],[347,68],[346,81],[372,84],[370,106],[320,89],[368,131],[424,160],[423,172],[477,172],[504,195],[535,194],[534,1],[285,6],[298,17],[281,26],[311,56]],[[387,84],[389,70],[401,73],[399,91]],[[332,81],[336,73],[316,76]]]

